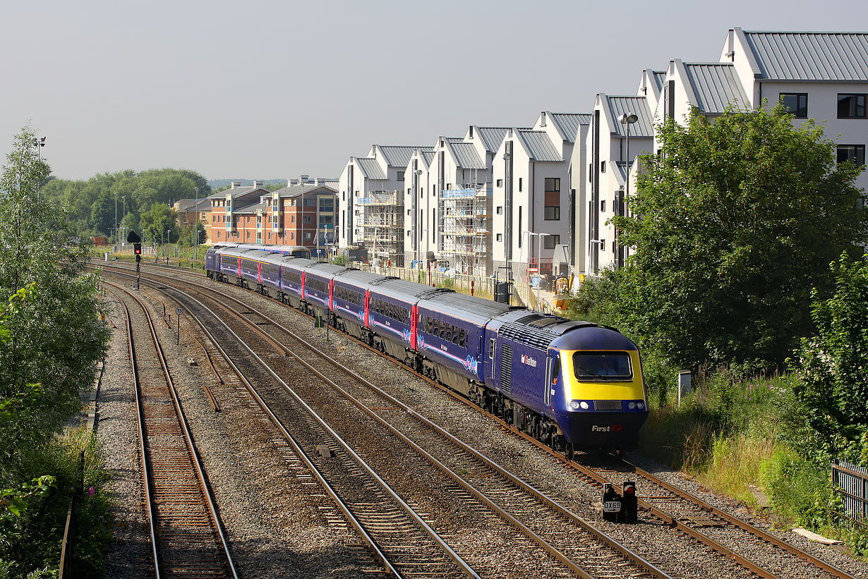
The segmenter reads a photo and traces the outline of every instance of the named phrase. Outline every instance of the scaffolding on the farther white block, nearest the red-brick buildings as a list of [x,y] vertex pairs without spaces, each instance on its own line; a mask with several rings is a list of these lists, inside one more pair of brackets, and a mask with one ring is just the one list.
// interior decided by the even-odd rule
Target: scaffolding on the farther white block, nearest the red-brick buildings
[[370,258],[383,265],[404,266],[404,194],[373,191],[358,199],[362,210],[362,243]]

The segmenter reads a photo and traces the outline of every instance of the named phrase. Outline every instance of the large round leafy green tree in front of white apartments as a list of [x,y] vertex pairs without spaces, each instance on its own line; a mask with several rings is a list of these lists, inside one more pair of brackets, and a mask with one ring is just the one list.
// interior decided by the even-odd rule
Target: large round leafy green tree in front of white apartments
[[682,367],[783,364],[811,332],[812,287],[832,288],[827,264],[861,254],[862,168],[836,165],[823,129],[780,106],[713,122],[694,111],[659,139],[661,155],[640,157],[633,216],[615,218],[635,248],[619,326]]

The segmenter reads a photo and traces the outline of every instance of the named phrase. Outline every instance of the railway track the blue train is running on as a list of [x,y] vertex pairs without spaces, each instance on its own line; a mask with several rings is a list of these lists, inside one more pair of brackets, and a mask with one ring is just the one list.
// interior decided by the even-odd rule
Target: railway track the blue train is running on
[[[404,367],[396,361],[391,359],[389,360],[394,365],[401,366],[402,368]],[[429,382],[431,381],[429,380]],[[431,384],[436,385],[432,382]],[[436,386],[441,390],[447,391],[453,398],[461,400],[464,404],[470,405],[464,400],[464,398],[458,397],[453,392],[448,391],[448,389],[444,389],[440,385]],[[392,405],[393,403],[390,402],[384,407],[389,408]],[[470,407],[477,409],[475,405],[470,405]],[[482,410],[479,411],[484,412]],[[576,463],[575,461],[567,461],[566,457],[552,451],[548,446],[539,443],[533,438],[529,438],[523,432],[516,431],[515,428],[510,426],[510,424],[504,423],[500,418],[494,417],[488,413],[486,414],[491,418],[496,418],[496,420],[500,422],[504,431],[508,431],[510,434],[517,437],[527,439],[542,449],[556,455],[560,460],[564,461],[565,464],[568,464],[570,468],[580,472],[581,476],[585,477],[585,479],[592,484],[602,484],[604,482],[620,483],[620,481],[626,477],[643,478],[644,481],[640,483],[640,490],[645,491],[645,496],[661,497],[654,501],[643,500],[640,503],[643,510],[671,527],[675,533],[689,536],[693,540],[707,545],[707,547],[720,553],[721,556],[726,556],[738,563],[742,569],[753,575],[764,577],[852,577],[845,573],[845,571],[837,569],[829,563],[825,563],[818,557],[812,556],[805,551],[794,547],[792,544],[781,541],[777,537],[766,533],[766,531],[759,530],[756,527],[753,527],[753,525],[740,521],[736,517],[730,516],[727,513],[716,509],[713,505],[704,503],[700,501],[700,499],[692,497],[674,486],[656,479],[656,477],[653,477],[650,473],[636,469],[632,465],[628,464],[621,464],[621,466],[615,466],[614,469],[608,470],[608,476],[606,476],[606,473],[603,473],[602,470],[594,472],[585,465]],[[460,466],[457,467],[457,469],[470,471],[466,466]],[[678,497],[678,501],[684,503],[689,502],[692,506],[682,505],[678,510],[674,510],[674,497]],[[743,533],[743,537],[733,543],[731,538],[727,538],[726,536],[721,537],[721,535],[726,535],[725,533],[720,533],[720,530],[724,528],[738,529]],[[778,575],[776,575],[776,572],[773,570],[764,569],[761,565],[753,563],[749,556],[751,551],[755,551],[756,549],[768,549],[769,547],[779,551],[779,556],[783,562],[781,563],[783,570],[780,570]],[[767,564],[766,567],[768,567]]]

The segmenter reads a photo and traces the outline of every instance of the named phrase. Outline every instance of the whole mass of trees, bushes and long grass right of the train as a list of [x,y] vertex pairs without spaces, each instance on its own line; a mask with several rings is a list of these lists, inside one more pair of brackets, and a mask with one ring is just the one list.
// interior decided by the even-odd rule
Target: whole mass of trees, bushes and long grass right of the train
[[[644,451],[863,553],[864,533],[832,528],[829,463],[868,465],[864,168],[780,107],[659,134],[632,216],[615,218],[635,254],[584,283],[573,314],[641,346]],[[679,406],[681,368],[696,389]]]

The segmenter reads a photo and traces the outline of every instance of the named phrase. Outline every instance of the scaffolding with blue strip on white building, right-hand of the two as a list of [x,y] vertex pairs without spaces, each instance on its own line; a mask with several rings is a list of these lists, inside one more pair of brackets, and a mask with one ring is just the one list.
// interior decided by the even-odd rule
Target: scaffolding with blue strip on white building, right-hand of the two
[[440,259],[457,273],[491,274],[491,188],[444,190],[437,202]]

